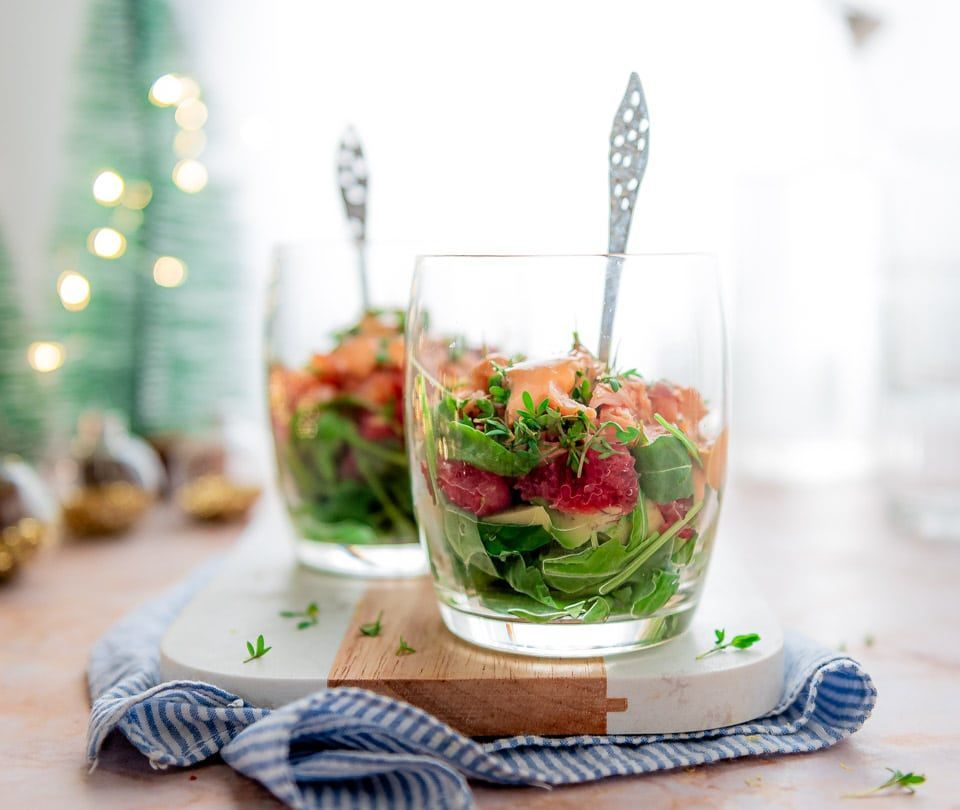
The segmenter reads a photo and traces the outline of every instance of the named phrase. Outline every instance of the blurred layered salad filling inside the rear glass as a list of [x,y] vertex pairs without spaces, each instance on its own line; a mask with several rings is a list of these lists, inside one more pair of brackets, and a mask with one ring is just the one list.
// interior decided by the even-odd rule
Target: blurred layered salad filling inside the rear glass
[[415,536],[398,313],[367,313],[302,368],[270,369],[278,462],[300,534],[369,545]]

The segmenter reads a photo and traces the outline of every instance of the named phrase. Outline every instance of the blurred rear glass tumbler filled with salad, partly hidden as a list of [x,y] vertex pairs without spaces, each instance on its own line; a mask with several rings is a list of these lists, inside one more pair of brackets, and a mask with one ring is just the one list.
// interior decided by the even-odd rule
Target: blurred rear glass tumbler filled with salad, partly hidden
[[277,249],[270,295],[270,417],[297,554],[367,577],[426,571],[404,448],[404,310],[413,253],[372,246],[364,304],[356,248]]

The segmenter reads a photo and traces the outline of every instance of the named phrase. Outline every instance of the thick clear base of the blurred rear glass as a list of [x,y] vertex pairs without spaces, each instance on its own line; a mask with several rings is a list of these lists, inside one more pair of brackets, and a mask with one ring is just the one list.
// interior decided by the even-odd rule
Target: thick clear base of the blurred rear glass
[[349,546],[298,539],[296,548],[303,565],[328,574],[396,579],[418,577],[429,570],[419,543]]

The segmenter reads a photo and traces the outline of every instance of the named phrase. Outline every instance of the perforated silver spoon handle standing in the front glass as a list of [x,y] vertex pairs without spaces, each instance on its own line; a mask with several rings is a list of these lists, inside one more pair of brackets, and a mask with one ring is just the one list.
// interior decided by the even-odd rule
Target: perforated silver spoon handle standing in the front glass
[[630,74],[627,92],[613,119],[610,130],[610,238],[607,242],[607,274],[603,288],[603,316],[600,321],[602,362],[610,361],[613,319],[617,314],[617,292],[627,250],[630,222],[637,202],[637,191],[647,168],[650,151],[650,116],[643,85],[636,73]]

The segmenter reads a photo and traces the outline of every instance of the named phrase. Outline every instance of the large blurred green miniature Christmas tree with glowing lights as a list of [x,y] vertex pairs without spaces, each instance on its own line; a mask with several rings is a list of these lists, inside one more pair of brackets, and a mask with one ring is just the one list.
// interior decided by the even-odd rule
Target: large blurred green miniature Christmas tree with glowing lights
[[140,433],[189,431],[237,390],[243,282],[173,22],[165,0],[90,10],[52,244],[60,424],[110,408]]

